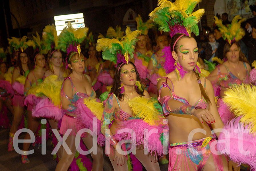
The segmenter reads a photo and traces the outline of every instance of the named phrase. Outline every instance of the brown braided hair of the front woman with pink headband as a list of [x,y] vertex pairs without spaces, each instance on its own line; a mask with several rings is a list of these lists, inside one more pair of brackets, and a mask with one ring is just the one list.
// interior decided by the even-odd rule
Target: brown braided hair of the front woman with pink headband
[[[175,34],[175,35],[172,37],[172,41],[171,41],[171,44],[170,44],[171,50],[172,50],[172,48],[173,48],[174,43],[175,43],[176,40],[179,38],[179,36],[180,36],[180,34]],[[191,36],[191,37],[182,36],[181,38],[179,38],[179,40],[177,41],[177,43],[176,43],[175,46],[174,46],[174,51],[175,51],[177,54],[178,54],[178,50],[179,50],[178,43],[179,43],[179,41],[180,41],[181,39],[183,39],[183,38],[185,38],[185,37],[195,39],[195,37],[193,37],[193,36]],[[196,75],[196,77],[197,77],[197,81],[199,81],[199,80],[200,80],[199,74],[196,73],[196,72],[194,72],[194,73],[195,73],[195,75]],[[201,94],[203,95],[203,97],[205,98],[205,100],[207,101],[207,103],[208,103],[208,104],[211,104],[211,101],[210,101],[208,95],[206,94],[203,85],[202,85],[202,84],[199,84],[199,87],[200,87]]]

